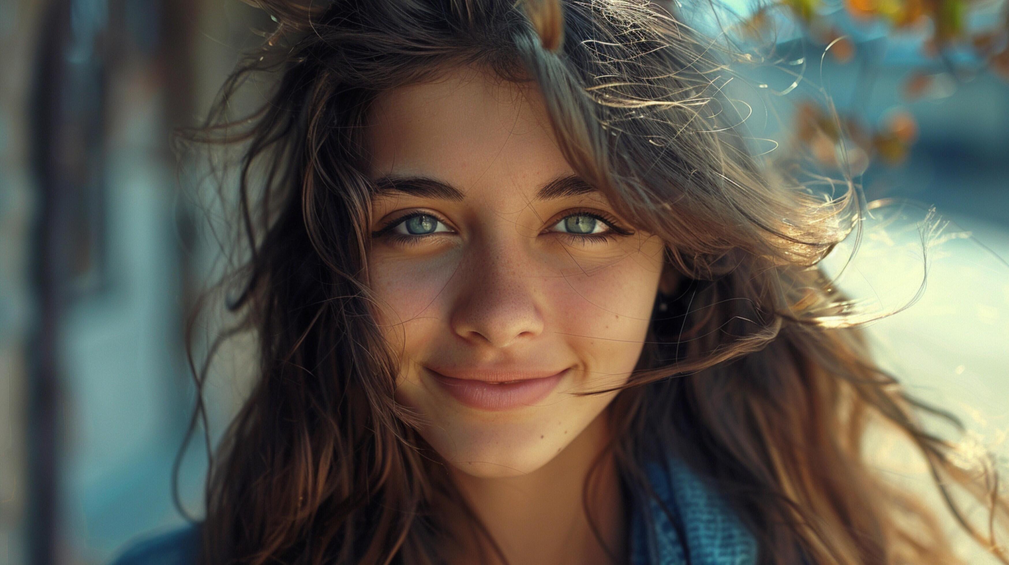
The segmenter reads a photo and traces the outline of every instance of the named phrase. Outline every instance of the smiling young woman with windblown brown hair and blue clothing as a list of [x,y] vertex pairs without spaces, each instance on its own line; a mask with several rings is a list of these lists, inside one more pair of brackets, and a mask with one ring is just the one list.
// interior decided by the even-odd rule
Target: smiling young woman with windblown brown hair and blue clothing
[[[955,563],[937,512],[1009,563],[817,266],[855,193],[760,166],[668,7],[260,3],[198,136],[243,151],[258,378],[206,519],[123,563]],[[873,426],[990,528],[888,483]]]

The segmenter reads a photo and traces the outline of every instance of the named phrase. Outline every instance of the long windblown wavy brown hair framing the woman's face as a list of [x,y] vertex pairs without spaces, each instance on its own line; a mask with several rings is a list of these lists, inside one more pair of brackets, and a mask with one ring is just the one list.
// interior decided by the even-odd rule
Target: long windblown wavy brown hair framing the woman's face
[[[235,331],[253,332],[259,355],[211,468],[204,562],[439,561],[439,504],[465,502],[394,401],[396,352],[367,280],[361,126],[377,93],[477,66],[535,83],[571,166],[663,238],[679,275],[610,407],[635,504],[654,495],[645,465],[675,455],[738,513],[761,563],[954,562],[936,517],[864,461],[870,425],[888,424],[920,450],[946,510],[1009,563],[997,475],[952,463],[955,445],[920,421],[943,413],[873,363],[818,266],[859,226],[858,193],[824,198],[751,156],[719,88],[724,53],[673,12],[641,0],[256,3],[275,31],[187,133],[240,148],[225,200],[246,257],[226,280]],[[229,116],[250,77],[275,80],[254,112]],[[987,532],[963,518],[955,486],[986,504]]]

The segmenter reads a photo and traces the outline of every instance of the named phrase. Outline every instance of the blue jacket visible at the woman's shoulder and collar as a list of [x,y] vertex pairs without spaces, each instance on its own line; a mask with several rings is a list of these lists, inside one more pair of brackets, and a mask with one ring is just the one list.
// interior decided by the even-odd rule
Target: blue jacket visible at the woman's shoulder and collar
[[[631,523],[632,565],[751,565],[757,562],[757,543],[724,505],[716,492],[678,460],[668,469],[648,468],[656,494],[673,515],[673,521],[656,500],[636,508]],[[655,527],[646,527],[649,512]],[[190,526],[142,541],[126,551],[114,565],[190,565],[196,562],[199,530]]]

